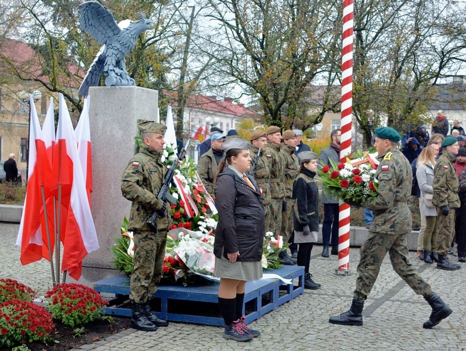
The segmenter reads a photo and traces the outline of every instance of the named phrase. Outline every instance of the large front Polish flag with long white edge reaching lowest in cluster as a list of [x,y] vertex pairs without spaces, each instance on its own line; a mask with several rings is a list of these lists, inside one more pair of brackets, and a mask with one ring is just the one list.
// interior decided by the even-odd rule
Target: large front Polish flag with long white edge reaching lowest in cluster
[[[78,280],[84,257],[99,248],[96,228],[90,212],[86,183],[76,147],[73,124],[68,107],[60,94],[59,119],[54,150],[54,170],[62,185],[61,241],[63,243],[62,271]],[[63,214],[63,211],[62,211]],[[63,225],[63,223],[65,225]]]

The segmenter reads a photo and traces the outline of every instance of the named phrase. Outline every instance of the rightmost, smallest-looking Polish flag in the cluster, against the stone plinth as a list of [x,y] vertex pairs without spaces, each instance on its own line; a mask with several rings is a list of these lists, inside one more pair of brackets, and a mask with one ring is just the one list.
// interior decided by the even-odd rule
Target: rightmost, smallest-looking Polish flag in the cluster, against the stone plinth
[[75,129],[76,140],[78,142],[78,155],[81,162],[82,174],[86,182],[86,192],[90,204],[90,193],[92,192],[92,155],[89,127],[89,106],[90,96],[84,99],[81,116]]

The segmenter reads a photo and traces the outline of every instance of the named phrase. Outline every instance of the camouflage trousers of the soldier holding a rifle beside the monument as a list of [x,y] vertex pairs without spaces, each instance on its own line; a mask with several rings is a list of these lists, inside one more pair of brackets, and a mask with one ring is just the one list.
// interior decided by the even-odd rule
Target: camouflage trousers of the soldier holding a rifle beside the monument
[[145,303],[151,300],[162,278],[167,230],[134,233],[134,268],[130,278],[130,300]]

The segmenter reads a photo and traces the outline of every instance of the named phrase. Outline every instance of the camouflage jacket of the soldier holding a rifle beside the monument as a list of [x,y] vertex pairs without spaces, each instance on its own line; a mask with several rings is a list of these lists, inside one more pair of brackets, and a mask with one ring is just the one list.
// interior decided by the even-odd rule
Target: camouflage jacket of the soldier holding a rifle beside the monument
[[[161,156],[162,153],[152,151],[142,144],[123,172],[121,192],[123,197],[132,202],[129,231],[150,231],[147,220],[162,206],[162,202],[156,197],[167,173],[167,168],[160,160]],[[170,208],[168,203],[167,208]],[[157,229],[168,230],[171,222],[168,214],[158,215],[157,218]]]

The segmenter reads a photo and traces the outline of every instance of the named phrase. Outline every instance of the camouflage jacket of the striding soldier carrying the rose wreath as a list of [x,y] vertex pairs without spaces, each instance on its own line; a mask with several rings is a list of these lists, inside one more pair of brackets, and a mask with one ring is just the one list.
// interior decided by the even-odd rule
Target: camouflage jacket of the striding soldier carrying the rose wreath
[[406,200],[411,195],[412,168],[397,147],[378,156],[375,174],[378,195],[362,204],[374,211],[369,232],[404,234],[411,232],[411,211]]

